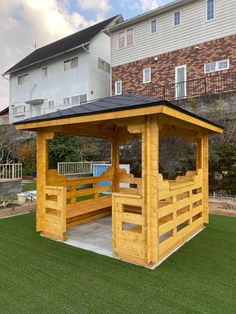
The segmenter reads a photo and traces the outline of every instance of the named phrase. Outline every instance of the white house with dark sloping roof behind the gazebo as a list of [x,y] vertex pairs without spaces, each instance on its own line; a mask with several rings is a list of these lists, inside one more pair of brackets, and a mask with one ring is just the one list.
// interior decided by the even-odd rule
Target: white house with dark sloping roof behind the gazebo
[[10,122],[110,95],[110,37],[117,15],[41,47],[3,75],[10,81]]

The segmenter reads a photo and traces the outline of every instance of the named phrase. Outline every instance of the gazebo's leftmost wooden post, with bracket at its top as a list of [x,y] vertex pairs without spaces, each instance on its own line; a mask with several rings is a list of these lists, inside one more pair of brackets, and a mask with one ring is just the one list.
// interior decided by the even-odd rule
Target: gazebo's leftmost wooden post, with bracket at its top
[[36,231],[42,231],[43,211],[45,208],[45,186],[48,170],[48,140],[54,133],[40,131],[37,134],[37,209]]

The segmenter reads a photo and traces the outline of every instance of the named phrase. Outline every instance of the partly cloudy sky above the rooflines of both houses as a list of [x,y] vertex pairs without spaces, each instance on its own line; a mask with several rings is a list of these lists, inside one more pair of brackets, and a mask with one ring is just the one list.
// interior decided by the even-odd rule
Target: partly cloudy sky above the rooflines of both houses
[[0,110],[9,105],[2,74],[57,39],[111,16],[129,19],[173,0],[0,0]]

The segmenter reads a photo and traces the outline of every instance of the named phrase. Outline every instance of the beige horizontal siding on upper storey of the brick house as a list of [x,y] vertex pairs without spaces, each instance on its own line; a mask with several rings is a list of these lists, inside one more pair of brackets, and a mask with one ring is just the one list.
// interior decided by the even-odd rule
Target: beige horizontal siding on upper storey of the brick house
[[236,34],[236,1],[216,0],[216,19],[206,22],[206,1],[196,0],[181,10],[181,25],[173,26],[173,12],[157,16],[158,31],[150,33],[153,19],[134,28],[134,45],[117,49],[117,32],[112,34],[112,66],[126,64],[169,51]]

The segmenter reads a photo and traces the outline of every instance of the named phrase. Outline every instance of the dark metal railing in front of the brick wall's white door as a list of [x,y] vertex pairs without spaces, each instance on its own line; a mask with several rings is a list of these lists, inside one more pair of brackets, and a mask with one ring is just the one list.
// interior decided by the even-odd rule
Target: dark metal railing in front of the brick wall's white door
[[[184,82],[161,85],[145,89],[140,93],[147,97],[176,100],[233,90],[236,90],[236,72],[208,75]],[[133,93],[134,91],[128,92]]]

